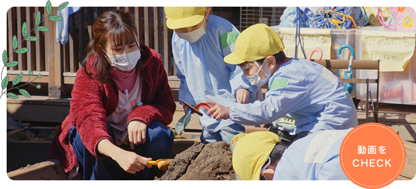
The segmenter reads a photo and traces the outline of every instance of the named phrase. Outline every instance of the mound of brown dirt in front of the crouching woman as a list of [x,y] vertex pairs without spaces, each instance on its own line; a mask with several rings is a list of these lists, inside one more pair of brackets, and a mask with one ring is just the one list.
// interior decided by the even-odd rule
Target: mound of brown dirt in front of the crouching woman
[[176,155],[169,169],[155,181],[231,181],[235,180],[229,144],[199,142]]

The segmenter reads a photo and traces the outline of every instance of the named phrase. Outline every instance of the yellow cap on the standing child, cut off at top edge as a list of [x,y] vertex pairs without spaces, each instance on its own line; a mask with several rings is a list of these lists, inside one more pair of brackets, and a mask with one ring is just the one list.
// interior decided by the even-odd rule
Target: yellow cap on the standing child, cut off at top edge
[[206,6],[163,6],[169,29],[196,26],[205,17]]

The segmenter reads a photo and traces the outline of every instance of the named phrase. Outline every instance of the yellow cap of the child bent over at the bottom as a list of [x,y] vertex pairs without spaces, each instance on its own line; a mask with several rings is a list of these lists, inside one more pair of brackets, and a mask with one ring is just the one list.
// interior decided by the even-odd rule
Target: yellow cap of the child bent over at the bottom
[[233,149],[235,173],[244,181],[259,181],[260,171],[280,137],[270,131],[257,131],[238,136]]

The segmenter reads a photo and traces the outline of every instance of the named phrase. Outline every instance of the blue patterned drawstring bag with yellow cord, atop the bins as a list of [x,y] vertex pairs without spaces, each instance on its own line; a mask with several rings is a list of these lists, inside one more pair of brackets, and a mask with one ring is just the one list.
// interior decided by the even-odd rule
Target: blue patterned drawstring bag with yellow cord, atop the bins
[[324,6],[319,8],[312,19],[312,28],[352,29],[357,28],[352,6]]

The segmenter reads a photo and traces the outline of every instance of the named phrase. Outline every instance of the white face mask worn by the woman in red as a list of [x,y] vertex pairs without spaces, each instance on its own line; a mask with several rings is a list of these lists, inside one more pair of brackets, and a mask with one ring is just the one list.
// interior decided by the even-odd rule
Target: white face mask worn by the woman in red
[[[104,50],[103,50],[104,51]],[[128,54],[122,54],[122,55],[115,55],[110,56],[105,51],[104,53],[110,57],[111,61],[108,60],[108,62],[111,62],[111,66],[116,67],[117,69],[121,70],[122,72],[127,72],[132,70],[136,67],[137,62],[139,61],[141,57],[140,49],[130,52]],[[107,57],[105,57],[107,58]]]

